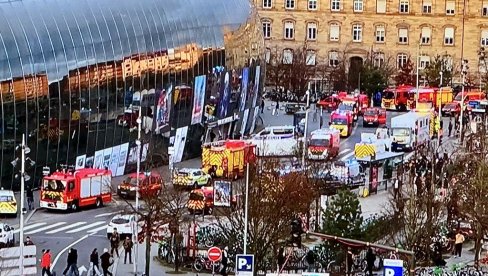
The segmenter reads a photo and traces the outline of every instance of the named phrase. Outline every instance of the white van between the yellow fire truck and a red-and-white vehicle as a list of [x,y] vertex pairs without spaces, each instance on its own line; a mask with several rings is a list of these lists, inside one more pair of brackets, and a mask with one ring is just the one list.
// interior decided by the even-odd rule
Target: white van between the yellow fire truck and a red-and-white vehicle
[[293,126],[266,127],[254,135],[250,142],[256,145],[258,156],[293,156],[298,145]]

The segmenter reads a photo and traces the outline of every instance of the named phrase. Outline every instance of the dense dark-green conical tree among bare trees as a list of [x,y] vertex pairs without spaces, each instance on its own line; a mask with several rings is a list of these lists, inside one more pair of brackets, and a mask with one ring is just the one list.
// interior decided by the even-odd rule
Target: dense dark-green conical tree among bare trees
[[323,221],[322,232],[359,239],[363,216],[358,197],[349,190],[340,190],[337,196],[327,203]]

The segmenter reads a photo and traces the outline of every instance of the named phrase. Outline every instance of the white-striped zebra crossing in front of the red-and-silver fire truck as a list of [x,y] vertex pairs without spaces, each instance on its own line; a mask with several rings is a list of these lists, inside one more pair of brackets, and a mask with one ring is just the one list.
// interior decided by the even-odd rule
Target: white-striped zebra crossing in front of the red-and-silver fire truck
[[[35,222],[32,224],[27,224],[24,226],[25,235],[60,235],[60,234],[75,234],[75,233],[86,233],[86,234],[96,234],[100,231],[105,231],[107,229],[107,221],[79,221],[79,222],[65,222],[60,221],[56,223],[47,222]],[[15,229],[14,233],[17,234],[20,229]]]

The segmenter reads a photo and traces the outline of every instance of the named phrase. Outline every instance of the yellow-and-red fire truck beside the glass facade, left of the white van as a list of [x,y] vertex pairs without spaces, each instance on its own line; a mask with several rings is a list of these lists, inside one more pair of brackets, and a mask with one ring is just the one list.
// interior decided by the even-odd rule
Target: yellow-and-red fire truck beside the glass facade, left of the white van
[[202,146],[202,170],[212,177],[238,179],[254,162],[256,146],[242,140],[207,143]]

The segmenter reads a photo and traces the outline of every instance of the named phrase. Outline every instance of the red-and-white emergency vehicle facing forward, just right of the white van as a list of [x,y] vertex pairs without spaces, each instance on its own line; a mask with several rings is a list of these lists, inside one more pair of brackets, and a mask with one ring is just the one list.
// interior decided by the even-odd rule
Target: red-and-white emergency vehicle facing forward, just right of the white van
[[327,160],[339,154],[340,131],[335,128],[312,131],[307,143],[307,157],[312,160]]

